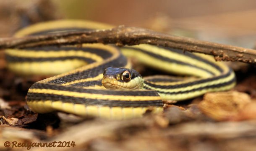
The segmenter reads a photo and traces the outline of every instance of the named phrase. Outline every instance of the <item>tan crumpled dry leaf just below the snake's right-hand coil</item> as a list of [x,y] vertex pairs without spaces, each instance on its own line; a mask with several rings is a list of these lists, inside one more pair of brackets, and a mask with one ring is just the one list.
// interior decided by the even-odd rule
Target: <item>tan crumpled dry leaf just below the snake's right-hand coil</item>
[[248,94],[237,91],[206,93],[199,109],[214,120],[225,121],[237,116],[250,102]]

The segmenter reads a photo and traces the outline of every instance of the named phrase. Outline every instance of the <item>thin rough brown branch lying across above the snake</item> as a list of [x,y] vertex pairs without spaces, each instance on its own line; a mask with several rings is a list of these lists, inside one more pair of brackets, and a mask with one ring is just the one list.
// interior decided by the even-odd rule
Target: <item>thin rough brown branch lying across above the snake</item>
[[55,33],[24,38],[3,38],[0,39],[0,49],[81,43],[104,43],[118,46],[138,44],[161,45],[213,55],[216,60],[256,64],[256,50],[253,49],[172,36],[143,28],[125,26],[118,26],[109,30]]

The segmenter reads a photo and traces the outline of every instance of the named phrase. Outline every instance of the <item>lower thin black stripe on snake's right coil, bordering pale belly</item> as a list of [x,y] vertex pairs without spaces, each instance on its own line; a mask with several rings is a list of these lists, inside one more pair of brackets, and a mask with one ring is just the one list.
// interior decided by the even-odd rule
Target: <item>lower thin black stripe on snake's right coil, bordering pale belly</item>
[[194,92],[194,91],[200,91],[203,89],[209,89],[209,88],[221,88],[223,86],[228,86],[232,83],[234,83],[236,80],[235,78],[232,79],[231,81],[227,81],[225,83],[219,83],[219,84],[214,84],[214,85],[210,85],[210,86],[204,86],[204,87],[200,87],[200,88],[194,88],[192,90],[188,90],[188,91],[178,91],[178,92],[163,92],[163,91],[157,91],[158,93],[164,93],[164,94],[184,94],[184,93],[190,93],[190,92]]

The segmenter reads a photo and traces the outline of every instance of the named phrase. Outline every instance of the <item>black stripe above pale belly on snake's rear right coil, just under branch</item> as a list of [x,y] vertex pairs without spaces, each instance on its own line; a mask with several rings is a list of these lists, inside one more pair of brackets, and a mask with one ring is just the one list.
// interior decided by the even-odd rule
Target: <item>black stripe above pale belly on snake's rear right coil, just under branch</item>
[[164,61],[167,61],[167,62],[171,62],[171,63],[177,63],[177,64],[180,64],[180,65],[187,65],[187,66],[190,66],[190,67],[194,67],[194,68],[198,68],[200,70],[204,70],[206,71],[207,73],[210,73],[211,75],[214,75],[214,73],[210,70],[206,70],[204,68],[201,68],[201,67],[198,67],[196,65],[191,65],[189,63],[184,63],[182,61],[179,61],[179,60],[174,60],[174,59],[170,59],[170,58],[167,58],[167,57],[164,57],[164,56],[161,56],[161,55],[157,55],[157,54],[154,54],[154,53],[150,53],[148,51],[145,51],[143,49],[139,49],[139,48],[133,48],[135,50],[138,50],[138,51],[141,51],[142,53],[145,53],[147,55],[150,55],[150,56],[153,56],[154,58],[157,58],[159,60],[164,60]]

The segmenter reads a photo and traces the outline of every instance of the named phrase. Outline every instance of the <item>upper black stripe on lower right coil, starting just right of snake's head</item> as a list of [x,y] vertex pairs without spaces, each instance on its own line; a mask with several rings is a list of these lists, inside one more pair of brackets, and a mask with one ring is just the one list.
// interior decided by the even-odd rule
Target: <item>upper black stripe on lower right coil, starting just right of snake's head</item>
[[160,86],[160,85],[155,85],[153,83],[149,83],[147,81],[144,81],[144,83],[148,86],[152,86],[154,88],[162,88],[162,89],[175,89],[175,88],[183,88],[183,87],[187,87],[187,86],[191,86],[191,85],[195,85],[195,84],[201,84],[201,83],[206,83],[206,82],[210,82],[210,81],[215,81],[221,78],[226,78],[228,76],[230,76],[230,74],[232,73],[232,69],[230,68],[230,70],[228,71],[228,73],[220,75],[220,76],[216,76],[216,77],[212,77],[212,78],[206,78],[206,79],[201,79],[201,80],[197,80],[197,81],[192,81],[192,82],[188,82],[188,83],[182,83],[182,84],[177,84],[177,85],[171,85],[171,86]]

